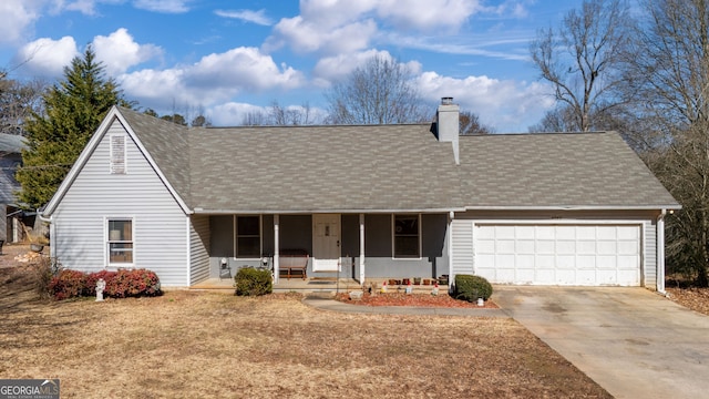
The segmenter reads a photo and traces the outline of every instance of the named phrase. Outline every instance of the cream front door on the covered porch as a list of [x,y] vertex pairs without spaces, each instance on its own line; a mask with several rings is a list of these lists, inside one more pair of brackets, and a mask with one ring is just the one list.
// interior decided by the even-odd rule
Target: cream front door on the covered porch
[[312,215],[312,272],[338,272],[340,215]]

